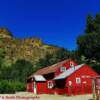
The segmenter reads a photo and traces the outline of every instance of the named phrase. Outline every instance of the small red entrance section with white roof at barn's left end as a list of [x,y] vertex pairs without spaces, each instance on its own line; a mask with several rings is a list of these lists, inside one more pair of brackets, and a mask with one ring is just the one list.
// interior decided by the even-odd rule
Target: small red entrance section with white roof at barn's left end
[[31,79],[27,80],[27,91],[34,94],[46,92],[46,80],[42,75],[34,75]]

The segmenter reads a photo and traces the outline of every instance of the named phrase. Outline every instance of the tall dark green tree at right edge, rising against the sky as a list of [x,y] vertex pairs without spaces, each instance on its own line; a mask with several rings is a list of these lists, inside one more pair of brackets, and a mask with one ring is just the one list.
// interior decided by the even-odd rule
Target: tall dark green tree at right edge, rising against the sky
[[[100,62],[100,14],[96,17],[89,15],[87,17],[87,25],[85,34],[77,39],[78,51],[80,56],[83,55],[88,64],[92,64],[92,68],[98,72],[98,63]],[[95,67],[93,67],[95,66]]]

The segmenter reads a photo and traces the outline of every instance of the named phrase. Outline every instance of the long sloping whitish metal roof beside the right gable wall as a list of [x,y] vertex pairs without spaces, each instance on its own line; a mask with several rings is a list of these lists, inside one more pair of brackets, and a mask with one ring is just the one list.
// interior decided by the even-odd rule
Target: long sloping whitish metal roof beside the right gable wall
[[54,80],[58,80],[58,79],[64,79],[68,76],[70,76],[72,73],[74,73],[75,71],[77,71],[78,69],[80,69],[84,64],[72,67],[68,70],[66,70],[65,72],[61,73],[60,75],[58,75],[57,77],[54,78]]

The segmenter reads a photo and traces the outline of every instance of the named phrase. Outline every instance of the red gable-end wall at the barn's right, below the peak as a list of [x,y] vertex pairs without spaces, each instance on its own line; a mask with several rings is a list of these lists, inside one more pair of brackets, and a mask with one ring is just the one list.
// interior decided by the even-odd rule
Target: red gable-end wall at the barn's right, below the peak
[[[91,77],[96,76],[97,74],[91,70],[87,65],[80,68],[78,71],[73,73],[68,79],[66,79],[66,87],[68,87],[68,92],[66,94],[88,94],[92,93],[92,80]],[[80,84],[76,84],[76,78],[81,79]],[[72,81],[72,85],[69,85],[68,82]]]

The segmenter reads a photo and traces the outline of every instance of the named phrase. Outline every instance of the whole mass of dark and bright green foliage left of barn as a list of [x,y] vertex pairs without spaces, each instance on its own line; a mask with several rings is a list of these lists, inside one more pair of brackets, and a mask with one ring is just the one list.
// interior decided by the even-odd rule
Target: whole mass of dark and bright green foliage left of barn
[[33,65],[25,60],[18,60],[10,67],[1,66],[0,93],[24,91],[26,78],[33,73]]

